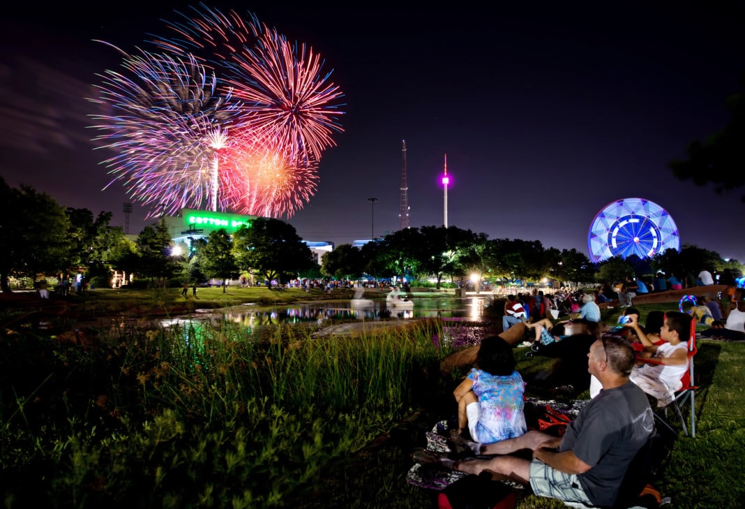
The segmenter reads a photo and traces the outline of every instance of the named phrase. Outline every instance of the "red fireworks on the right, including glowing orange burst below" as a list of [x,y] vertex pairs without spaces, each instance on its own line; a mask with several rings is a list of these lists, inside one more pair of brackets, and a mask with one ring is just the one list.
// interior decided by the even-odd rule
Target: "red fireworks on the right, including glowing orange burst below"
[[323,74],[317,53],[290,44],[253,14],[192,10],[193,16],[181,15],[183,22],[168,23],[175,37],[153,42],[177,53],[206,51],[205,64],[225,76],[221,83],[241,103],[244,148],[223,175],[231,186],[223,189],[244,212],[292,215],[314,195],[320,156],[335,145],[332,134],[343,131],[337,121],[343,94],[329,81],[331,73]]

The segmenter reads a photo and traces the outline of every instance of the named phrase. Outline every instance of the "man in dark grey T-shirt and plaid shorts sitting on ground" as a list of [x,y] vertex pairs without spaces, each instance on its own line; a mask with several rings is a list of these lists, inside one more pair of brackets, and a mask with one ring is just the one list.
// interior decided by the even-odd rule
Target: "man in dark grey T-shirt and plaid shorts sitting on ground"
[[[592,344],[588,371],[603,390],[580,410],[563,437],[528,431],[510,440],[472,444],[478,454],[500,455],[491,459],[454,461],[426,451],[416,452],[414,459],[474,474],[494,472],[563,502],[612,506],[631,461],[654,430],[647,396],[629,379],[634,362],[624,338],[604,335]],[[533,451],[532,461],[510,455],[522,449]]]

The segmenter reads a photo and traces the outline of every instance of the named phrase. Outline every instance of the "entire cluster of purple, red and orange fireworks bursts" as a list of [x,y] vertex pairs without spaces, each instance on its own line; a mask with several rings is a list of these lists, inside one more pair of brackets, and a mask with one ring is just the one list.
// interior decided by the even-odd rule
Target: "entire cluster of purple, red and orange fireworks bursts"
[[[181,15],[183,16],[183,15]],[[194,9],[102,75],[92,118],[118,152],[104,164],[150,217],[183,207],[291,217],[314,195],[342,94],[322,60],[235,11]],[[130,76],[131,75],[131,76]],[[112,182],[113,182],[112,181]]]

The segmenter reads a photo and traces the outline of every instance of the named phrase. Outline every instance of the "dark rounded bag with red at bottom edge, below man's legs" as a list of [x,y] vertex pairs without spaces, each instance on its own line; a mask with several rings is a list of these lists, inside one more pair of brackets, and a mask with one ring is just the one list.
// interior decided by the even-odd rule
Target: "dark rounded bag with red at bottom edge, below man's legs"
[[458,479],[437,495],[439,509],[514,509],[515,493],[501,481],[493,481],[490,472],[469,474]]

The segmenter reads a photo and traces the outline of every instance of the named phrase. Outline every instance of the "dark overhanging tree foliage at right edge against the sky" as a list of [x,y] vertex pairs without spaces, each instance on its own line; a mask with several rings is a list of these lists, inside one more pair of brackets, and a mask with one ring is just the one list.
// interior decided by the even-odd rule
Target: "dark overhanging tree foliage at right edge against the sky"
[[[726,102],[732,113],[729,124],[704,142],[691,142],[686,149],[688,159],[673,159],[668,164],[679,179],[691,179],[699,186],[714,183],[717,193],[745,186],[745,96],[739,92]],[[742,200],[745,203],[745,195]]]

